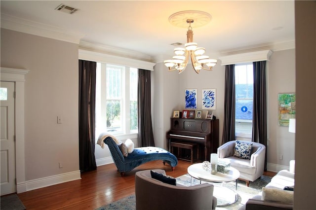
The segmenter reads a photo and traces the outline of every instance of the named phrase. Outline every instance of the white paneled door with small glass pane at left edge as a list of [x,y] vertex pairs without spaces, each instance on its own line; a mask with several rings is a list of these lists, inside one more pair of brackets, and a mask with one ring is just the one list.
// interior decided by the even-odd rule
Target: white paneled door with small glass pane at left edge
[[14,82],[0,82],[1,195],[16,192],[14,141]]

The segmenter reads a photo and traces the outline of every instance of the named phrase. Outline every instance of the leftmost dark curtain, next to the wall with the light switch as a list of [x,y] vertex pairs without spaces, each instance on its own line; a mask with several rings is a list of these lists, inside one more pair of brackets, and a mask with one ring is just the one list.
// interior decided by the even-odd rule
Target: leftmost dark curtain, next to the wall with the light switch
[[79,169],[97,168],[95,146],[96,62],[79,60]]

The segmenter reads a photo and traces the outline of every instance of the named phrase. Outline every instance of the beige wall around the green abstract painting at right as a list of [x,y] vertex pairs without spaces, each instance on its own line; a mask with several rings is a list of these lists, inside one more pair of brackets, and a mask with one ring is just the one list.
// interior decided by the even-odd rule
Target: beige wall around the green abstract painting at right
[[278,172],[279,166],[288,167],[289,161],[295,159],[295,134],[278,125],[277,101],[279,93],[295,93],[295,49],[271,55],[268,84],[268,169]]

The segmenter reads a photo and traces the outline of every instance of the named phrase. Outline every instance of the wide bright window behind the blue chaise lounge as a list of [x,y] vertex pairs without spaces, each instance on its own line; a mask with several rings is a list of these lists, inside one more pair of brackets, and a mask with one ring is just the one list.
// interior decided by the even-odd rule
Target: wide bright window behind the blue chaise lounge
[[97,63],[96,138],[102,132],[128,135],[138,132],[138,69]]

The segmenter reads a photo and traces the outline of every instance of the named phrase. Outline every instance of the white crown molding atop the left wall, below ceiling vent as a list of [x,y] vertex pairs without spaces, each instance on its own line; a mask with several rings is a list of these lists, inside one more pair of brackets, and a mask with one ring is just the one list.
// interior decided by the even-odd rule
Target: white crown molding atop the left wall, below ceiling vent
[[1,13],[1,28],[79,44],[84,34]]

